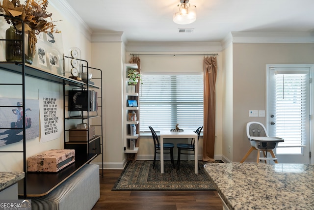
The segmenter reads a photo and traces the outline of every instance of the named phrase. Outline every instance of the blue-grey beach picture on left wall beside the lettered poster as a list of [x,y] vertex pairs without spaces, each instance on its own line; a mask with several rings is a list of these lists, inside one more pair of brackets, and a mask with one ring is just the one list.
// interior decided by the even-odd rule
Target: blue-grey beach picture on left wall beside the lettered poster
[[39,100],[26,99],[23,106],[20,98],[0,98],[0,146],[23,140],[23,115],[25,115],[26,140],[39,137]]

